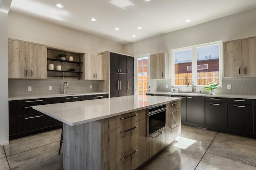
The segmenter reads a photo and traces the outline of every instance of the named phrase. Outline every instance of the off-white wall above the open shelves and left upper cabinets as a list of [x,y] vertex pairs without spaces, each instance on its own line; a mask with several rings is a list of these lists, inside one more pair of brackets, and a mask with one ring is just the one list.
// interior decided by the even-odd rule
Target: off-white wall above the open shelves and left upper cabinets
[[8,31],[9,38],[73,51],[98,54],[110,50],[123,53],[123,45],[118,43],[12,12],[9,12]]

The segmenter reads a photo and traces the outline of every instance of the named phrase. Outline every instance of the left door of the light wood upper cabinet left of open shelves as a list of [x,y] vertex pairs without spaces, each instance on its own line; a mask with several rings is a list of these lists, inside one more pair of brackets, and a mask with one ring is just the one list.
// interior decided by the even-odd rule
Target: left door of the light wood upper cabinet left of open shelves
[[9,40],[8,78],[29,78],[29,43]]

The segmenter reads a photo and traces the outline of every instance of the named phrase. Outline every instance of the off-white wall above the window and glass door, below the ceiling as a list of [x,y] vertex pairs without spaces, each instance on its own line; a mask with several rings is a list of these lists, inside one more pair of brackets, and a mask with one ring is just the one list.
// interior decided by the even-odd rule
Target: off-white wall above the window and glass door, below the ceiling
[[170,50],[199,45],[214,41],[230,41],[246,37],[256,36],[256,8],[173,31],[136,43],[124,45],[124,53],[129,55],[139,55],[144,53],[169,53]]

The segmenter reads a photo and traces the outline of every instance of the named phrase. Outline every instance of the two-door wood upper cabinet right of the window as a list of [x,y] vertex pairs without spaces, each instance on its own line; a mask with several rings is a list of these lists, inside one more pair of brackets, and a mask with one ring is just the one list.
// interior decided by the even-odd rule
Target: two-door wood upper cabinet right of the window
[[256,76],[256,37],[224,42],[224,77]]

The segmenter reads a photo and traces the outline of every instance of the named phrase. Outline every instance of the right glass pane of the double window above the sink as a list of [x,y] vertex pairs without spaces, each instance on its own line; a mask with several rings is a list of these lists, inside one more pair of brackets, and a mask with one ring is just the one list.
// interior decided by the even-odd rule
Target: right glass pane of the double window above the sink
[[196,49],[197,84],[208,85],[208,82],[220,84],[220,46],[211,45]]

